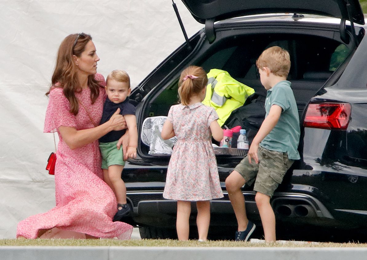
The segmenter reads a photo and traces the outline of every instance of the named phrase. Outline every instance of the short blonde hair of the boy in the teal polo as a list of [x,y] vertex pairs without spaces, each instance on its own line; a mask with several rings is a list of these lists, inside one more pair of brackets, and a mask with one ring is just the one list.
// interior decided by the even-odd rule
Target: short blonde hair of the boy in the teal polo
[[291,59],[288,51],[279,46],[267,48],[256,61],[258,69],[268,67],[276,76],[287,77],[291,68]]

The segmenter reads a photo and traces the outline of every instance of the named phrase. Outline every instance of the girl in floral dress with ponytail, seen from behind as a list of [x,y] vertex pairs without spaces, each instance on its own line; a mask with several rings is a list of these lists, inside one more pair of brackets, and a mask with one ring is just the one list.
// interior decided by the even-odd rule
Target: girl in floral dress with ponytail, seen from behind
[[214,108],[203,105],[208,78],[203,68],[189,66],[180,76],[178,94],[181,104],[168,112],[161,136],[177,136],[167,170],[163,197],[177,200],[177,236],[189,239],[191,201],[196,201],[199,241],[206,241],[210,222],[210,200],[222,198],[217,160],[211,135],[222,140]]

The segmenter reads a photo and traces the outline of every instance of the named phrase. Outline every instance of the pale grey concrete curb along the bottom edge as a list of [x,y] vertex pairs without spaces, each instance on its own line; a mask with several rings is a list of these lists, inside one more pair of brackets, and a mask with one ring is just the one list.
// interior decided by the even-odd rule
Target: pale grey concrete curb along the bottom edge
[[365,260],[367,248],[1,246],[1,260]]

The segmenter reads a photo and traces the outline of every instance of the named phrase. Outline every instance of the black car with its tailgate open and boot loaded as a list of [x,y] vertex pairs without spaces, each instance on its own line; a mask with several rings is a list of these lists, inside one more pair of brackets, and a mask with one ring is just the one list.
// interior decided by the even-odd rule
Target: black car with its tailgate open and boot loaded
[[[367,37],[359,2],[183,3],[205,28],[132,91],[138,131],[144,119],[166,116],[170,106],[177,104],[179,75],[188,65],[202,66],[207,72],[212,68],[228,71],[262,95],[265,90],[255,61],[266,48],[283,47],[291,56],[288,80],[301,122],[301,159],[288,170],[271,199],[277,238],[332,241],[335,234],[359,238],[355,231],[367,231]],[[148,151],[139,140],[138,158],[130,160],[122,173],[128,202],[134,208],[126,221],[139,226],[142,238],[176,238],[176,202],[162,196],[170,156],[153,156]],[[237,222],[224,181],[242,158],[217,155],[225,197],[211,201],[209,239],[233,239]],[[255,192],[245,186],[243,194],[248,218],[261,227]],[[192,238],[195,213],[192,207]],[[327,232],[312,238],[315,230]],[[254,236],[261,238],[261,228]]]

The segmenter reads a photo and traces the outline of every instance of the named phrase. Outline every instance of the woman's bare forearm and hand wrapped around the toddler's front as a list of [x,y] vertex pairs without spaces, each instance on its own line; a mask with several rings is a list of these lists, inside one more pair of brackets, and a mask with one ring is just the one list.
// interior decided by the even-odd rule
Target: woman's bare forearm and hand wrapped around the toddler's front
[[59,126],[58,130],[68,147],[70,149],[76,149],[98,140],[112,130],[118,131],[126,129],[126,121],[123,116],[119,115],[119,113],[120,108],[113,113],[110,120],[97,127],[76,130],[75,127]]

